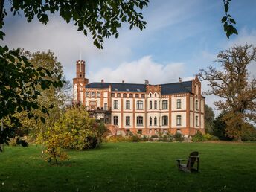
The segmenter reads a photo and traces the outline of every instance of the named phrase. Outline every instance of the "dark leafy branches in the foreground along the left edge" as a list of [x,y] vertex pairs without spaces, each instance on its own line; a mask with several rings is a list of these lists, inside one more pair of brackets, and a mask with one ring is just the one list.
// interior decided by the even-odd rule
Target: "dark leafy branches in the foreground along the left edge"
[[54,71],[34,67],[19,49],[13,51],[7,46],[0,46],[0,68],[0,119],[10,120],[10,124],[4,124],[4,130],[0,131],[0,144],[8,144],[22,126],[16,113],[26,111],[28,119],[45,122],[43,116],[33,113],[37,109],[49,115],[48,108],[37,100],[42,95],[39,89],[61,87],[63,80],[48,79],[49,75],[55,74]]

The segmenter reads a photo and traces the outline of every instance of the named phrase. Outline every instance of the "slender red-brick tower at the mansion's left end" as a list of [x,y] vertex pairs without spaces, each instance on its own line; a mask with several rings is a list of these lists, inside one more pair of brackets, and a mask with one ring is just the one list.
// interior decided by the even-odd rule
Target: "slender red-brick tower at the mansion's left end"
[[85,86],[89,83],[86,79],[86,63],[84,60],[77,60],[77,77],[73,79],[73,103],[84,104]]

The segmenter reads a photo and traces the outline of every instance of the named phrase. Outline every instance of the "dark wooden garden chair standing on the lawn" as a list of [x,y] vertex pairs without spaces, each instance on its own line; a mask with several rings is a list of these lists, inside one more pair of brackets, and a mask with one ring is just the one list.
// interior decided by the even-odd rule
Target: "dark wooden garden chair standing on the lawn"
[[[182,161],[185,159],[177,159],[179,170],[182,170],[187,173],[191,173],[193,171],[199,172],[199,153],[197,151],[191,152],[188,156],[187,164],[182,164]],[[196,168],[193,168],[193,165],[196,163]]]

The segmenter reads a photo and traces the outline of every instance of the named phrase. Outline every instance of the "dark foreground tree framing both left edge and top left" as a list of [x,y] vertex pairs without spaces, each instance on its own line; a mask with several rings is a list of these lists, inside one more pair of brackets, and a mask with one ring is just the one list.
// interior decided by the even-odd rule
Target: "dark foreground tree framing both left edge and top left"
[[[10,2],[10,11],[13,16],[24,13],[28,22],[36,16],[39,22],[47,24],[48,13],[60,13],[66,21],[73,20],[78,31],[83,31],[87,36],[87,31],[92,34],[94,44],[97,48],[103,48],[103,38],[111,35],[118,37],[118,28],[122,22],[128,22],[129,28],[145,28],[141,10],[147,7],[148,0],[134,1],[112,1],[112,0],[89,0],[89,1],[19,1]],[[4,39],[4,17],[7,16],[4,0],[0,0],[0,39]],[[13,127],[4,127],[0,131],[0,144],[8,144],[10,138],[15,135],[16,129],[21,127],[16,112],[28,112],[28,118],[38,118],[44,123],[45,118],[32,113],[33,109],[41,109],[48,115],[48,109],[41,106],[37,99],[41,93],[38,90],[49,89],[50,86],[61,87],[62,75],[57,74],[57,80],[52,81],[45,78],[51,77],[54,71],[46,68],[35,68],[24,55],[20,55],[19,49],[10,51],[7,46],[0,46],[0,119],[10,118]],[[0,147],[1,151],[2,147]]]

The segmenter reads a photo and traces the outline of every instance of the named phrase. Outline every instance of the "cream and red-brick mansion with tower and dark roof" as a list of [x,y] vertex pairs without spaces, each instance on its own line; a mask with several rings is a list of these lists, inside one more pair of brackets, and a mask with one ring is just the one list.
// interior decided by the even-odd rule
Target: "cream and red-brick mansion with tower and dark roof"
[[85,62],[77,60],[73,79],[74,104],[82,104],[96,118],[124,132],[155,135],[205,132],[205,97],[196,76],[190,81],[152,85],[144,83],[89,83]]

